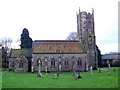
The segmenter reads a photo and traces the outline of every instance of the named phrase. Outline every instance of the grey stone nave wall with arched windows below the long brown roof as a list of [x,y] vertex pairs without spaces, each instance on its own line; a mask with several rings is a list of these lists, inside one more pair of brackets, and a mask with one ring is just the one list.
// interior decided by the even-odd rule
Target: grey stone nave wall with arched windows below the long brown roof
[[[33,54],[33,71],[38,71],[38,60],[41,60],[41,71],[45,71],[47,58],[47,71],[58,71],[61,65],[61,71],[84,71],[87,63],[86,54]],[[55,66],[52,66],[52,60],[55,60]],[[61,63],[59,62],[61,61]],[[79,60],[79,61],[78,61]]]

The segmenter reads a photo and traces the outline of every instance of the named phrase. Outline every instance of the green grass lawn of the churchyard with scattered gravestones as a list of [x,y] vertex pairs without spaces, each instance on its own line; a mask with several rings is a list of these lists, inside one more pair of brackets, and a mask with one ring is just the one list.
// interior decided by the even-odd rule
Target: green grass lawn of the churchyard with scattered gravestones
[[45,74],[42,78],[37,73],[2,73],[2,88],[117,88],[118,68],[111,75],[108,75],[107,68],[102,68],[101,73],[97,70],[81,72],[82,79],[75,80],[71,72],[61,72],[58,79],[54,79],[54,72]]

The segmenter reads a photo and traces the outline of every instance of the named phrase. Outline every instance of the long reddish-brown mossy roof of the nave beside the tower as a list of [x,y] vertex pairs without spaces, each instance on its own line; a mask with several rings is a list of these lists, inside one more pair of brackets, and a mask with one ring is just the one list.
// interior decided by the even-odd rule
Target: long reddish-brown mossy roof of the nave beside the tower
[[83,53],[82,45],[77,40],[35,40],[33,53]]

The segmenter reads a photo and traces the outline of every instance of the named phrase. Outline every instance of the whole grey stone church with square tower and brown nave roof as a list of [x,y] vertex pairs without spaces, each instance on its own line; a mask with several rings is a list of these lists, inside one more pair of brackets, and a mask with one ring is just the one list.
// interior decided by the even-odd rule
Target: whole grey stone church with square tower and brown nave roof
[[[26,29],[25,29],[26,30]],[[94,10],[77,13],[79,40],[35,40],[31,49],[12,49],[9,69],[15,72],[87,71],[97,67]]]

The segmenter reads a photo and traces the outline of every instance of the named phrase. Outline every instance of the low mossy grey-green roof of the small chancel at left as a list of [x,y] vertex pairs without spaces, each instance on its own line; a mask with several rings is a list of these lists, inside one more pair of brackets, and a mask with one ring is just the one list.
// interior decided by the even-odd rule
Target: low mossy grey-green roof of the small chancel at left
[[20,56],[32,57],[32,49],[12,49],[10,57],[17,58]]

